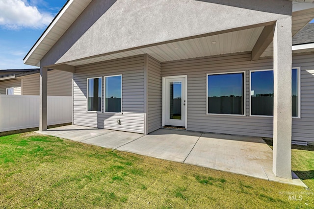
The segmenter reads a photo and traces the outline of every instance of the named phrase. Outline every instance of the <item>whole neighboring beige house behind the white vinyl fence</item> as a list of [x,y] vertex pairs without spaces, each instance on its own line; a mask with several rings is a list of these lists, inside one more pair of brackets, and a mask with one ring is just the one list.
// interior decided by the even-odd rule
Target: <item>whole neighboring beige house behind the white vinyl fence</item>
[[[48,95],[72,96],[73,73],[49,70]],[[0,70],[0,94],[39,95],[39,69]]]

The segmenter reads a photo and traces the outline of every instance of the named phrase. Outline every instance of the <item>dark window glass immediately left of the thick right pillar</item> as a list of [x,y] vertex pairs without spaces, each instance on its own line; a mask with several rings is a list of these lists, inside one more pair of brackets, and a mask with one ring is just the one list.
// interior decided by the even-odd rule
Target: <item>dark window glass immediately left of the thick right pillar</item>
[[273,113],[273,70],[251,72],[251,115],[272,116]]

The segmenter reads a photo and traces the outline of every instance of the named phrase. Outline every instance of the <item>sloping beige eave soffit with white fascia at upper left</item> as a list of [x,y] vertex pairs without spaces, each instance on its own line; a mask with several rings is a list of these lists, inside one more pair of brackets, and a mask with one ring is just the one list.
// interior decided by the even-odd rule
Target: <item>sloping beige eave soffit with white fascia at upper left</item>
[[52,23],[29,50],[24,64],[39,66],[39,61],[74,23],[92,0],[68,0]]

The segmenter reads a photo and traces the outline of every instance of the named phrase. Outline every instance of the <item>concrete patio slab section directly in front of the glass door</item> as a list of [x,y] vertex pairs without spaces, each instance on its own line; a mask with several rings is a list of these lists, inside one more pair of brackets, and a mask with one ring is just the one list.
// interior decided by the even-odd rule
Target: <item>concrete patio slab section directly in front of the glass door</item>
[[199,132],[159,129],[118,150],[183,163],[200,136]]

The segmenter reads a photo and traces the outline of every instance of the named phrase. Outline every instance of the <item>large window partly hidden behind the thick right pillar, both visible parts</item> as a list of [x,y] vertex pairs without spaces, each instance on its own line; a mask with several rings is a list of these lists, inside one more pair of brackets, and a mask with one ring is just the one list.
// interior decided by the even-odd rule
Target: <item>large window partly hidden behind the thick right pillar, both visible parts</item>
[[[299,116],[299,70],[292,69],[292,116]],[[273,70],[251,71],[251,115],[274,115]]]

